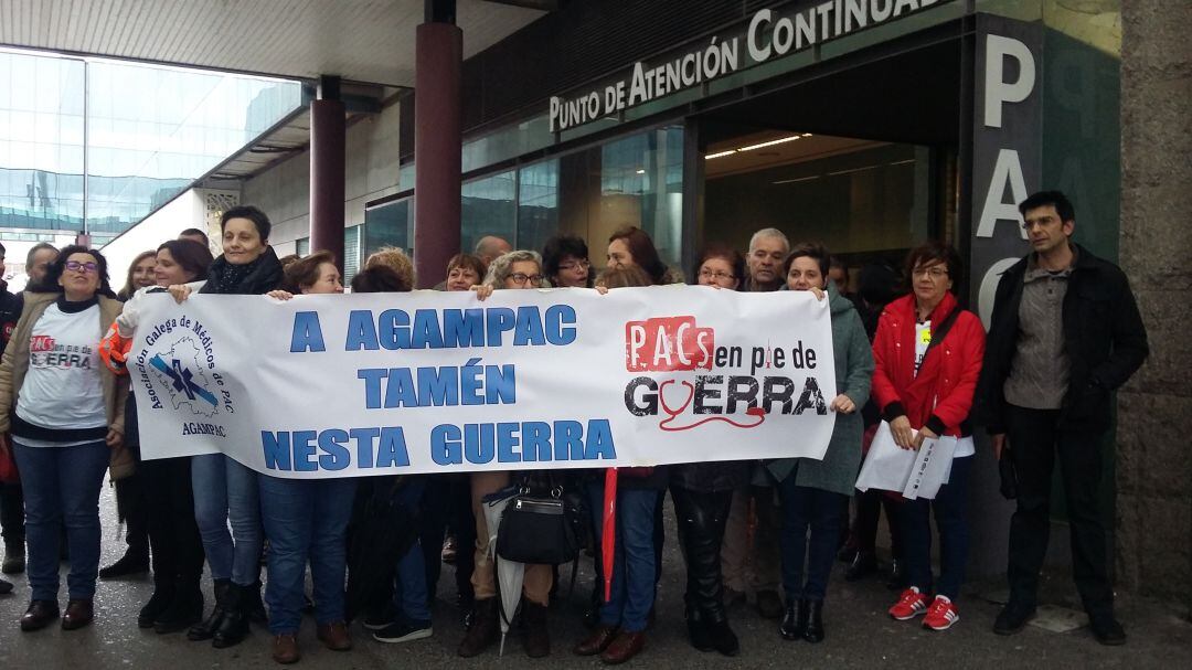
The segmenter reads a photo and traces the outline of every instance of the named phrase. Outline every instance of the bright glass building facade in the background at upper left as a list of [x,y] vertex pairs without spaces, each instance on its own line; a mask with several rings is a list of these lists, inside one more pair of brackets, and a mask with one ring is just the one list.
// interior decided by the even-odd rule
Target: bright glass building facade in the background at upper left
[[0,50],[0,228],[114,236],[302,104],[296,81]]

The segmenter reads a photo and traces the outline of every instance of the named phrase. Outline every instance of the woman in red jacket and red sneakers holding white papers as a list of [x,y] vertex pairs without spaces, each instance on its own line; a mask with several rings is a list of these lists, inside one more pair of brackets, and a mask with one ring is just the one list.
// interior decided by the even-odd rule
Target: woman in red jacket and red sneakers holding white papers
[[[909,588],[889,609],[900,621],[926,614],[925,628],[960,621],[956,596],[964,579],[969,528],[966,500],[974,445],[968,415],[985,356],[985,329],[952,296],[962,263],[956,249],[927,242],[906,262],[912,293],[886,306],[874,336],[873,396],[898,446],[917,449],[925,439],[957,438],[951,474],[933,501],[904,501],[899,523]],[[939,528],[940,575],[931,591],[931,525]]]

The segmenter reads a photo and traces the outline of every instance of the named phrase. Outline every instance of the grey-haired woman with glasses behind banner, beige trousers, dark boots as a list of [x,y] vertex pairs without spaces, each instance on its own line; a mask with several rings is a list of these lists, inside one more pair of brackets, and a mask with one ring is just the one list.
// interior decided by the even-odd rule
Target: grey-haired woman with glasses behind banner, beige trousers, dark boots
[[[496,290],[502,289],[545,289],[542,278],[542,258],[538,252],[516,250],[493,259],[489,263],[489,273],[484,284],[473,286],[476,296],[485,299]],[[472,590],[476,594],[476,606],[472,614],[472,627],[467,629],[464,641],[459,645],[459,655],[468,658],[478,656],[501,638],[499,608],[497,597],[496,571],[489,556],[489,526],[484,520],[484,496],[493,494],[509,485],[509,471],[486,471],[472,473],[472,514],[476,516],[476,554],[472,570]],[[522,614],[524,624],[523,646],[530,658],[541,658],[551,653],[551,638],[546,629],[546,607],[551,600],[551,584],[554,576],[550,565],[535,564],[526,566],[522,583]]]

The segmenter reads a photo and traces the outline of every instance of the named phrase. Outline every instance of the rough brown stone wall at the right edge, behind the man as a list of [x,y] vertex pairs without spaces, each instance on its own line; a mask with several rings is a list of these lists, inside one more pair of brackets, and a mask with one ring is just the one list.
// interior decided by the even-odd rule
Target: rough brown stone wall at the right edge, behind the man
[[1118,393],[1117,575],[1192,612],[1192,4],[1122,2],[1122,267],[1150,359]]

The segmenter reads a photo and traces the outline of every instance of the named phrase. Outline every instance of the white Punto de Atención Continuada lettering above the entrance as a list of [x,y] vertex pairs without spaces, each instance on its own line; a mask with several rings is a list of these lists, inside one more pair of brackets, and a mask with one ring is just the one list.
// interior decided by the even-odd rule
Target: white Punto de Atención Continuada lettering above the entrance
[[952,0],[828,0],[781,10],[759,10],[744,31],[712,36],[663,57],[638,61],[623,76],[601,87],[551,98],[551,132],[615,116],[625,110],[708,81],[789,56],[861,30],[883,25]]

